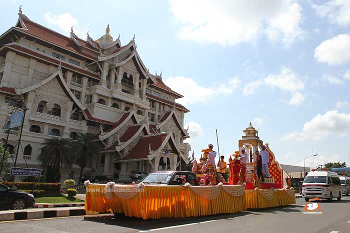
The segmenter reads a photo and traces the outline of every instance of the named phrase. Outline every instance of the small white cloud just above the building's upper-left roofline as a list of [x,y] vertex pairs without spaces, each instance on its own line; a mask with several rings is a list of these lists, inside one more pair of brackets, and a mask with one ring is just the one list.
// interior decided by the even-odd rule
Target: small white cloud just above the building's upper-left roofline
[[64,34],[70,33],[70,28],[73,26],[74,33],[81,37],[86,36],[86,30],[79,29],[78,20],[74,18],[69,12],[63,14],[53,14],[52,12],[46,12],[44,18],[47,22],[56,25],[61,29]]

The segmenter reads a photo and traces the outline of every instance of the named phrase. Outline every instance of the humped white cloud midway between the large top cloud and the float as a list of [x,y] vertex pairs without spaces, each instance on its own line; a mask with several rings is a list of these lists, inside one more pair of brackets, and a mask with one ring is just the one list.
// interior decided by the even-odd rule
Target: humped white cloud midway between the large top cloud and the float
[[280,74],[269,74],[264,82],[271,87],[278,87],[283,91],[296,92],[305,87],[304,78],[298,76],[291,69],[282,67]]

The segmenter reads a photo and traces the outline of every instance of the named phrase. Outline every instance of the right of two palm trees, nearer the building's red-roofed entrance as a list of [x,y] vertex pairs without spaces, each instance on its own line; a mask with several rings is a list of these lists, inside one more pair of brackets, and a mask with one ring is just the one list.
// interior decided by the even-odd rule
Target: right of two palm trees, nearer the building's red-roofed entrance
[[90,133],[78,133],[76,141],[74,142],[74,149],[76,150],[76,163],[80,167],[79,181],[82,177],[82,171],[87,164],[92,164],[93,160],[96,160],[99,146],[93,141],[93,134]]

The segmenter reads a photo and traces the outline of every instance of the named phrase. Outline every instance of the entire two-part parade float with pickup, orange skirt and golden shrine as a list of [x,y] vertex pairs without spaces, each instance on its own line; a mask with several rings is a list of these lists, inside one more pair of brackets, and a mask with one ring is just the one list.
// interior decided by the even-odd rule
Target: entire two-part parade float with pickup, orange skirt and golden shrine
[[248,159],[241,163],[238,151],[233,154],[234,159],[228,159],[227,182],[216,172],[213,162],[216,153],[209,144],[208,149],[201,151],[199,162],[194,159],[192,172],[153,172],[148,176],[159,175],[158,180],[147,182],[145,177],[139,184],[90,184],[86,181],[85,210],[123,213],[146,220],[228,214],[294,204],[290,178],[283,187],[283,170],[268,143],[270,177],[264,181],[257,178],[254,155],[263,144],[251,124],[243,132],[245,135],[238,141],[238,147],[245,148]]

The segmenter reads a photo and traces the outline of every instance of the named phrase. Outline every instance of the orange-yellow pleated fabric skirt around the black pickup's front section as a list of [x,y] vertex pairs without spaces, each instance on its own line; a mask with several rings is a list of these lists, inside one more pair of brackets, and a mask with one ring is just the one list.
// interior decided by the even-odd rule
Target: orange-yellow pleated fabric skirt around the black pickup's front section
[[114,185],[113,189],[117,191],[106,195],[105,185],[87,185],[85,210],[124,213],[125,216],[144,220],[226,214],[246,210],[245,184],[227,186],[146,185],[142,187],[142,191],[125,195],[121,191],[126,187],[127,189],[137,188],[137,186]]

